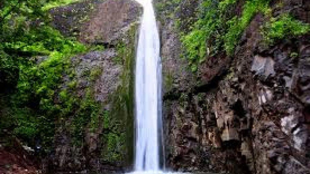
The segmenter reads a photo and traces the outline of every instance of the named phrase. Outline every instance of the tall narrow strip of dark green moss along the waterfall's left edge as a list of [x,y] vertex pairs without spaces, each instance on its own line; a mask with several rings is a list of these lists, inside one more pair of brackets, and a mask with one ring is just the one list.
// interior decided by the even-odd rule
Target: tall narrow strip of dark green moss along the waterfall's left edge
[[[121,85],[109,96],[111,111],[105,116],[105,127],[113,129],[103,135],[104,149],[102,159],[108,162],[126,162],[132,164],[134,137],[134,59],[135,37],[138,24],[133,23],[125,37],[116,47],[117,57],[114,61],[123,67]],[[110,121],[109,121],[110,120]]]

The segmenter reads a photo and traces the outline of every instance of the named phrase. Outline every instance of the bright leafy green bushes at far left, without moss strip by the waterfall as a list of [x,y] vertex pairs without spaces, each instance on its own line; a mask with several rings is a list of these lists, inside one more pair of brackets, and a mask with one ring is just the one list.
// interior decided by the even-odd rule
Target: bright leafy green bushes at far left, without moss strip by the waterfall
[[[66,125],[81,145],[86,128],[94,132],[104,115],[91,86],[79,94],[70,57],[102,46],[64,37],[49,26],[47,6],[72,1],[5,0],[0,6],[0,135],[30,147],[53,146],[58,126]],[[101,70],[90,71],[94,81]],[[64,80],[68,79],[68,80]],[[68,124],[69,123],[69,124]]]

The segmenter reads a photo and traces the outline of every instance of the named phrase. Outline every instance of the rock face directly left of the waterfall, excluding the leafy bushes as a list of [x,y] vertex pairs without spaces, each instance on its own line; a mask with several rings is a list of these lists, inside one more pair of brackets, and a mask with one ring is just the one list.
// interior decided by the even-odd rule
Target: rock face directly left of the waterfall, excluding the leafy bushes
[[[51,10],[52,25],[64,35],[105,47],[72,57],[71,68],[75,72],[78,96],[85,98],[87,92],[92,92],[101,103],[100,110],[109,115],[102,112],[103,116],[98,116],[101,120],[95,130],[86,126],[78,145],[73,143],[75,137],[70,132],[74,116],[59,124],[55,149],[43,160],[44,170],[110,173],[132,167],[133,60],[141,10],[137,2],[125,0],[87,1]],[[64,81],[69,78],[64,76]],[[115,124],[114,132],[109,132],[112,130],[104,125],[104,119],[110,119],[110,125]]]

